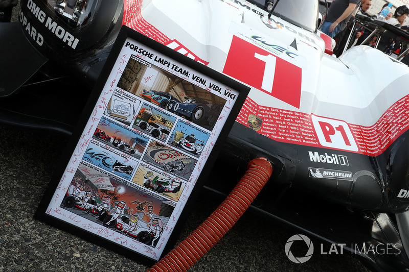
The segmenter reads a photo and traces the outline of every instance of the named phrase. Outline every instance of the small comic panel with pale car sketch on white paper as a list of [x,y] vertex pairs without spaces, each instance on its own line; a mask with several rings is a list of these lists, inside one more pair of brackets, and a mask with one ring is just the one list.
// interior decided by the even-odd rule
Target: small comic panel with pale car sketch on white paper
[[127,92],[115,90],[105,109],[104,114],[130,126],[135,111],[141,102]]

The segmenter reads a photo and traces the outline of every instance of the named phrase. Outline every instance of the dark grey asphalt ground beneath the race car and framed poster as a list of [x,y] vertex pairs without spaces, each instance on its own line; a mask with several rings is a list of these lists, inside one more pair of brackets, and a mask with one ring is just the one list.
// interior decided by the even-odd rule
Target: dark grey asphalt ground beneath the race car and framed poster
[[[13,8],[16,20],[18,6]],[[0,41],[1,42],[1,41]],[[69,138],[65,135],[0,125],[0,271],[146,271],[136,258],[113,252],[33,218]],[[178,241],[188,236],[221,203],[203,191]],[[237,224],[189,271],[368,271],[352,255],[322,255],[297,264],[285,254],[297,231],[247,211]],[[321,241],[312,240],[319,245]],[[294,256],[307,246],[294,242]]]

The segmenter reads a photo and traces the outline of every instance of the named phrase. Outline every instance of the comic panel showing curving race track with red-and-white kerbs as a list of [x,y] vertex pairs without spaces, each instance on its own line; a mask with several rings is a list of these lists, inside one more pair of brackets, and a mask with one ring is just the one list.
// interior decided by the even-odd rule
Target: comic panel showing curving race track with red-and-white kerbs
[[142,161],[188,181],[197,160],[157,141],[151,141]]

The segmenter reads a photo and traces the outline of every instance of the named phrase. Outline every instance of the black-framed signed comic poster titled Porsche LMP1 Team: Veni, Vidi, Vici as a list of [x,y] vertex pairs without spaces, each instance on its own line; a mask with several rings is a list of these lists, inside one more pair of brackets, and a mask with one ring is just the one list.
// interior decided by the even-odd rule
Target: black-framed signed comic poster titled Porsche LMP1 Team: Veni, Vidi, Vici
[[173,248],[248,92],[123,27],[36,218],[159,260]]

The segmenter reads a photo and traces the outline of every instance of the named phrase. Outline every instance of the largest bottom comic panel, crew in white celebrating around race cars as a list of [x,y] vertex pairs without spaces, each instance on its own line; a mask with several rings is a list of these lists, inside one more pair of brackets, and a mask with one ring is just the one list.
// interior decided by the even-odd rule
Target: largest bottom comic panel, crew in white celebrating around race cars
[[[60,208],[156,246],[175,204],[81,161]],[[98,226],[97,225],[97,226]],[[95,227],[94,227],[95,228]]]

